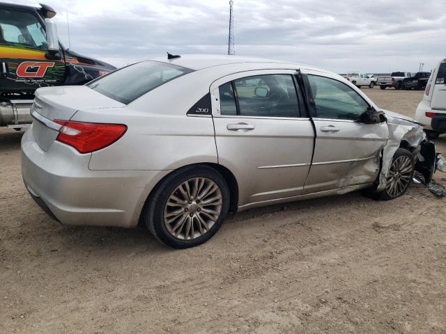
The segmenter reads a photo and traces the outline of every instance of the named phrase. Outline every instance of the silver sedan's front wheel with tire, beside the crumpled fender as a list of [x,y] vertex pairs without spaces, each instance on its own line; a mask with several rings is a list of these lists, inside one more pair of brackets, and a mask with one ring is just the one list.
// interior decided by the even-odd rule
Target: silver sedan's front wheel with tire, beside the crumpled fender
[[415,173],[415,159],[412,153],[404,148],[395,152],[387,175],[387,185],[376,194],[378,200],[393,200],[408,190]]

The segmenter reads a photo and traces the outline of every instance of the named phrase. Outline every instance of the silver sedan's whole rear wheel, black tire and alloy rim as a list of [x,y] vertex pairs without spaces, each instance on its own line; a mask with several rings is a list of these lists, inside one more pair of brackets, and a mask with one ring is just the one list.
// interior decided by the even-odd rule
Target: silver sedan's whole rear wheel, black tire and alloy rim
[[189,248],[213,237],[228,211],[229,189],[222,175],[208,166],[191,166],[157,186],[143,218],[162,243]]

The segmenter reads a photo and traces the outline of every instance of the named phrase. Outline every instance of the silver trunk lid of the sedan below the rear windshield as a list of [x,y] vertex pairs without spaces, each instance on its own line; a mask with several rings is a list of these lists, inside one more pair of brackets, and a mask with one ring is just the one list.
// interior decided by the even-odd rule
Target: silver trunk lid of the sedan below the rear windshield
[[54,120],[70,120],[78,110],[123,107],[87,86],[45,87],[36,90],[31,115],[34,118],[33,135],[43,150],[47,151],[59,134],[61,125]]

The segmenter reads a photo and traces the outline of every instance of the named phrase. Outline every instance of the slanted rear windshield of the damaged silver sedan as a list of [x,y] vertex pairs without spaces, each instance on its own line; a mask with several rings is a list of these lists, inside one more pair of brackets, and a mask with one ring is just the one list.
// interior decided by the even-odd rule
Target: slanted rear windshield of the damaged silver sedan
[[86,86],[113,100],[129,104],[167,81],[192,71],[190,68],[168,63],[143,61],[91,81]]

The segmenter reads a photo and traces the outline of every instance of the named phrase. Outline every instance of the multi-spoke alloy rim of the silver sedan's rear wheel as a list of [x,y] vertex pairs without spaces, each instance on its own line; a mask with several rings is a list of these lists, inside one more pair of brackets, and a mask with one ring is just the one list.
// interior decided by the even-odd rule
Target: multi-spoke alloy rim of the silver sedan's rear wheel
[[164,226],[173,237],[192,240],[206,234],[222,212],[222,191],[205,177],[181,183],[164,207]]

